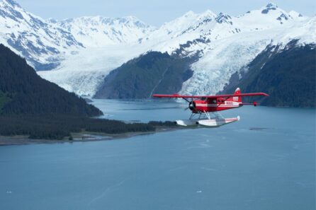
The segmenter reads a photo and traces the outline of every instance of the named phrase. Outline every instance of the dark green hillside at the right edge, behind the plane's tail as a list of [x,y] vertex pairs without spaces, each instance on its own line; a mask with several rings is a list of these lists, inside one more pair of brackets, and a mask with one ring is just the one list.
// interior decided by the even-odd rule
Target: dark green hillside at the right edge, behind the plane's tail
[[269,46],[249,64],[249,71],[240,81],[232,78],[225,93],[239,86],[242,92],[265,92],[267,98],[257,98],[261,105],[315,107],[316,46],[291,42],[281,52]]

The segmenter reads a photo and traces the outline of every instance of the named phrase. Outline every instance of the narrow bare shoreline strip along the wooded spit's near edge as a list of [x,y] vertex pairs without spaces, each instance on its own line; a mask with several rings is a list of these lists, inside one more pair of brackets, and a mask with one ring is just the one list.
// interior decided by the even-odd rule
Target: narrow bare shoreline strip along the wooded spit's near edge
[[27,145],[27,144],[64,144],[89,141],[113,141],[118,139],[128,139],[133,136],[156,134],[159,132],[171,132],[179,127],[156,127],[154,132],[128,132],[123,134],[105,134],[97,132],[72,133],[73,140],[69,139],[28,139],[28,136],[0,136],[0,146]]

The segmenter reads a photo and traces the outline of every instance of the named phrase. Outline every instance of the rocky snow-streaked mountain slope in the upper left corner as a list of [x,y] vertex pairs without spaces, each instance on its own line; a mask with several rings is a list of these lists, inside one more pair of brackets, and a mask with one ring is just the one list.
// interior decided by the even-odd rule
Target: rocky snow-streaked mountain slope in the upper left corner
[[83,47],[71,33],[28,13],[13,0],[0,1],[0,29],[0,42],[35,69],[53,69],[63,54]]

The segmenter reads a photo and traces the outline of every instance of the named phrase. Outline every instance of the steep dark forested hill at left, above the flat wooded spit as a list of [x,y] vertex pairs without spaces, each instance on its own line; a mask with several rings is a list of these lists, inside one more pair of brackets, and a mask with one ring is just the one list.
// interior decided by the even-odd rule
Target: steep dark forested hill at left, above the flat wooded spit
[[40,78],[25,59],[0,45],[0,115],[51,113],[87,117],[102,114],[74,93]]

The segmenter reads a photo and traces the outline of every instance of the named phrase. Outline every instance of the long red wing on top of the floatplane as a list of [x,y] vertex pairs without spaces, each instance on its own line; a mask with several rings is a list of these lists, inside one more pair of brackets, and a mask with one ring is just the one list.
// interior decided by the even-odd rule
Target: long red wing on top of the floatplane
[[266,93],[240,93],[240,94],[225,94],[225,95],[163,95],[163,94],[154,94],[152,95],[155,98],[230,98],[230,97],[238,97],[238,96],[269,96]]

